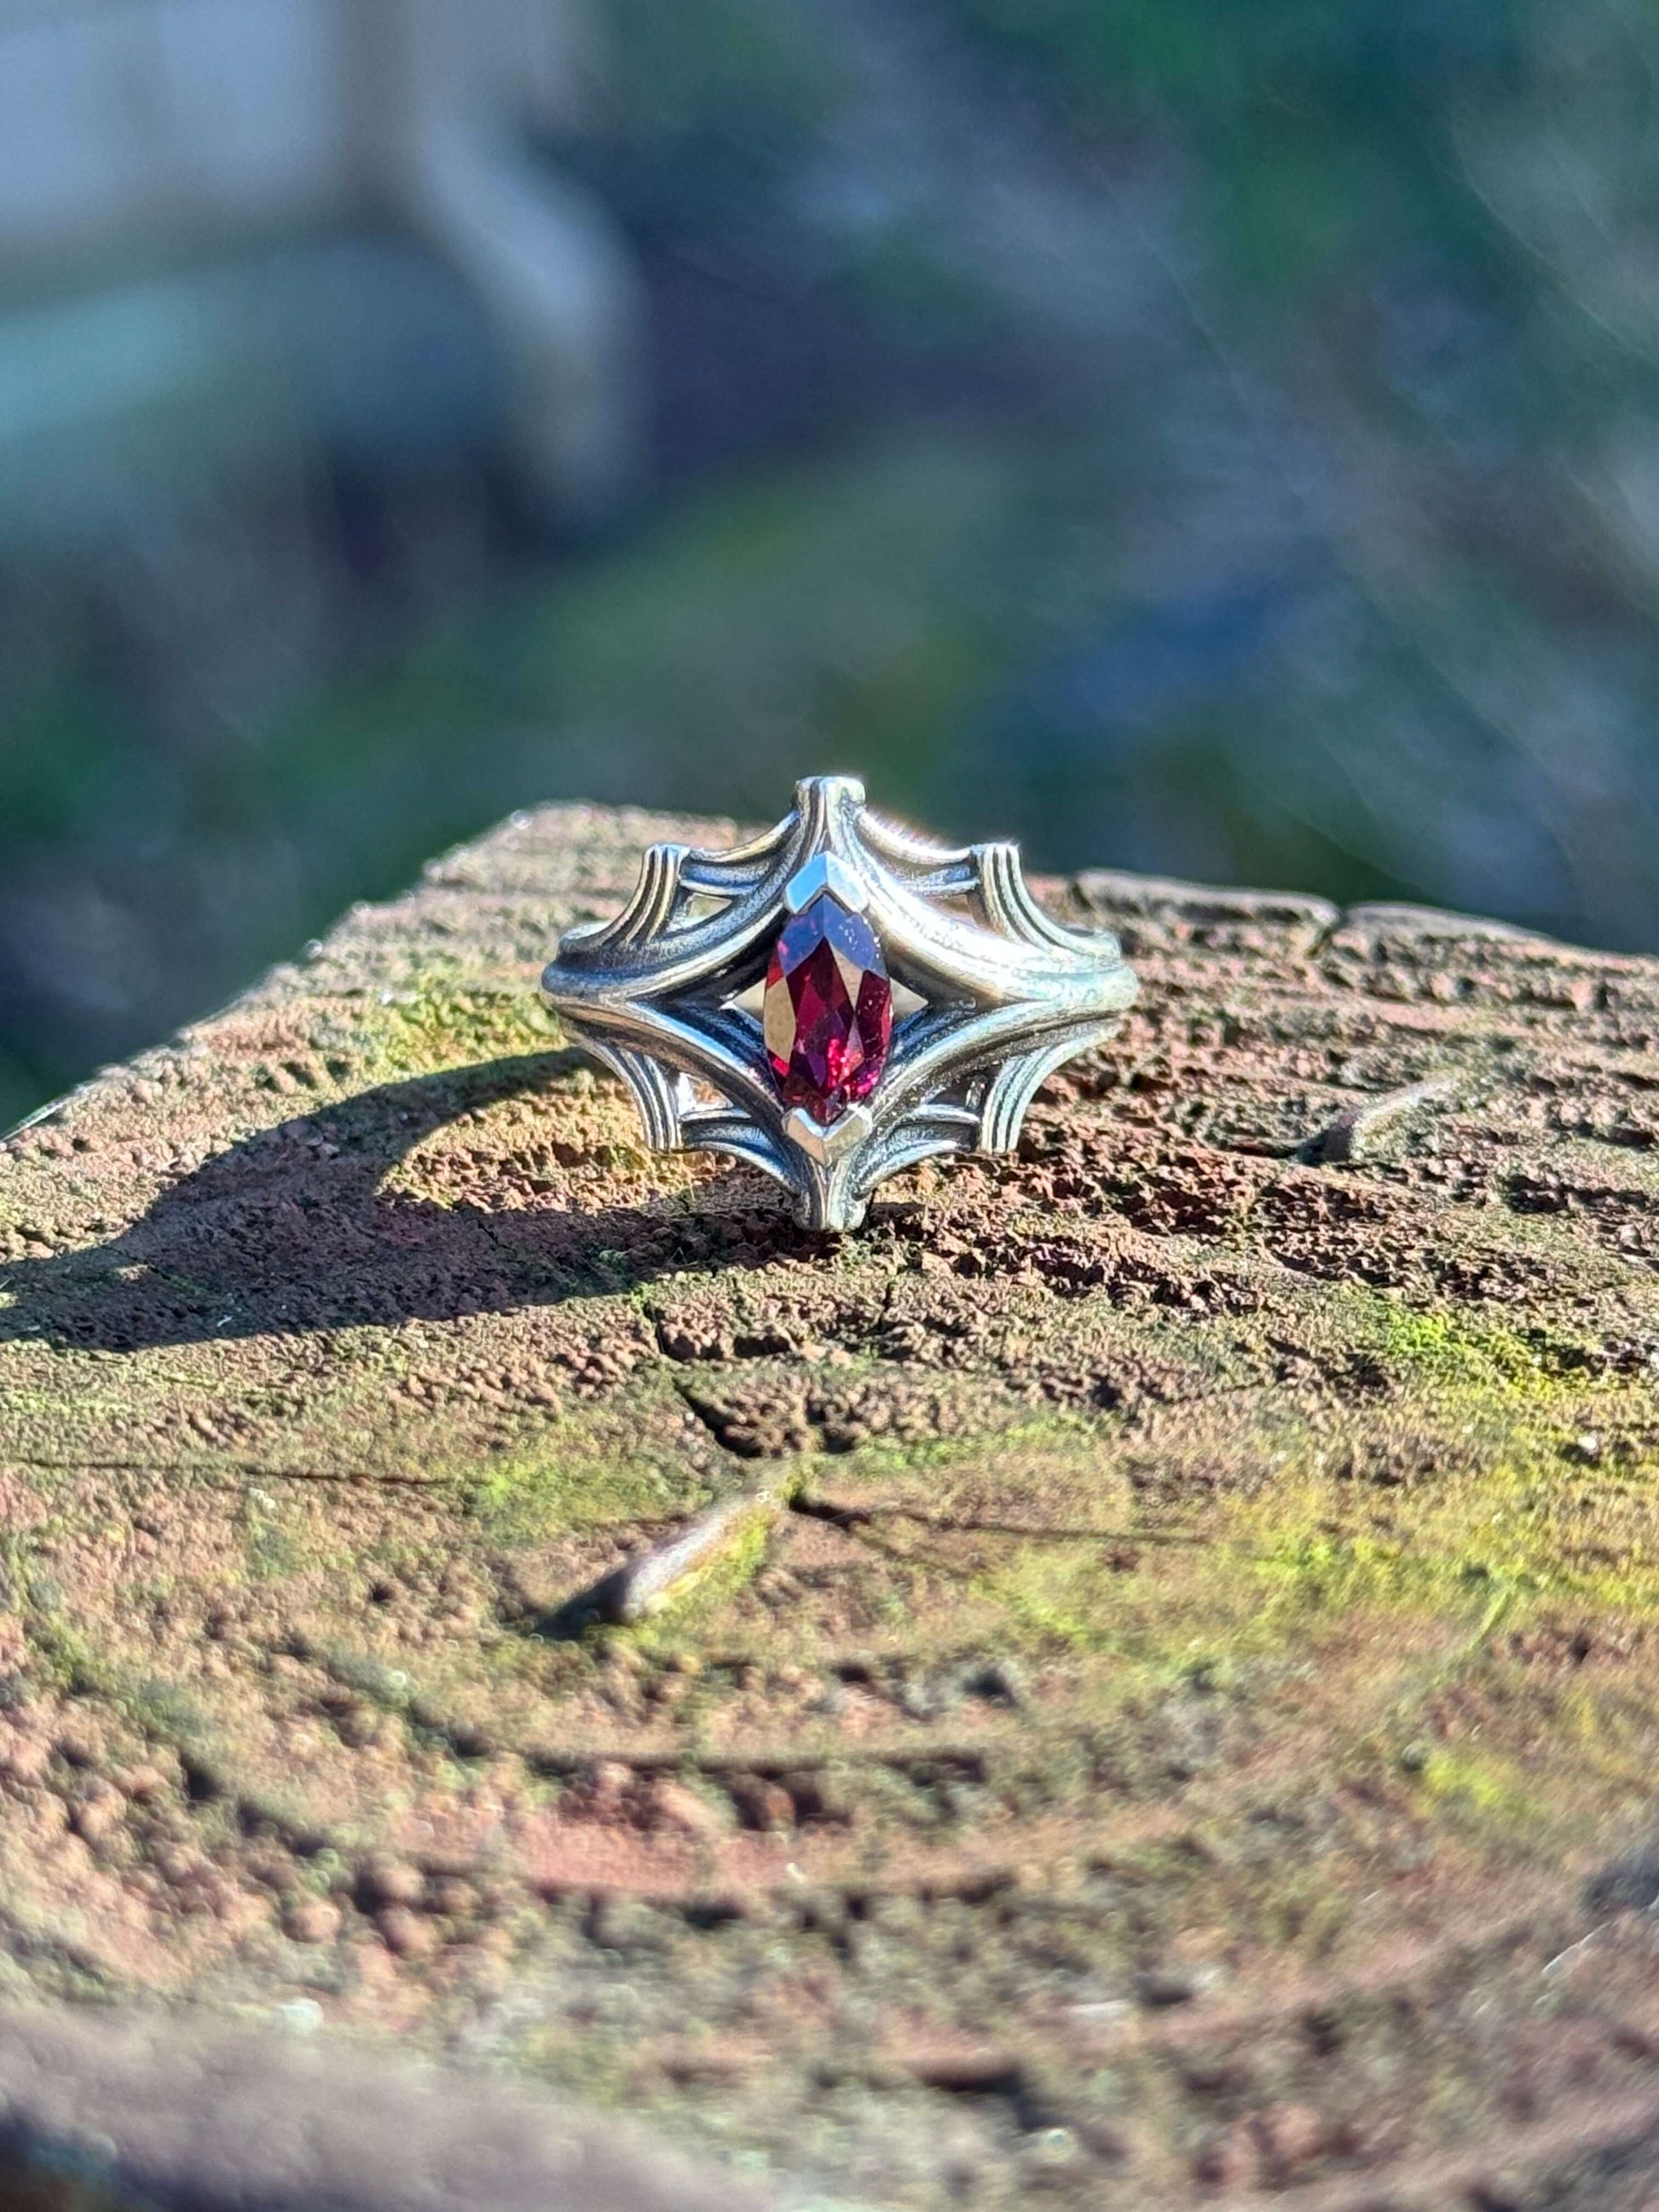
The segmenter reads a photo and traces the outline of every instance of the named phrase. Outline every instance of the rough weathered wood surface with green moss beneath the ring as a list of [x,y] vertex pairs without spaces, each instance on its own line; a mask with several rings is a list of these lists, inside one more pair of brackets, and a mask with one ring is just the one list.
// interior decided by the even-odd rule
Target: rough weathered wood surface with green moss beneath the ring
[[1121,1040],[814,1241],[531,993],[728,827],[524,816],[0,1150],[0,1995],[818,2203],[1650,2203],[1659,962],[1048,885]]

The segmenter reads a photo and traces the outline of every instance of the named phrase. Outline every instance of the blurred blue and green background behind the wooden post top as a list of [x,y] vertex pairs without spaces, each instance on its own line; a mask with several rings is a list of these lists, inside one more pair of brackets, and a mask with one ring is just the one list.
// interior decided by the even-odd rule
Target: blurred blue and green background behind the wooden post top
[[0,18],[0,1124],[549,796],[1659,945],[1648,0]]

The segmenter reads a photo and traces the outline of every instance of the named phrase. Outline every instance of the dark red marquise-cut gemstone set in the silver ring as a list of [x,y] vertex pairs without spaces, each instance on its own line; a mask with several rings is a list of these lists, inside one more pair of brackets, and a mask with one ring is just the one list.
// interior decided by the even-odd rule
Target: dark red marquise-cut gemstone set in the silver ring
[[887,1066],[894,987],[876,931],[823,891],[783,929],[765,971],[765,1057],[790,1106],[830,1126]]

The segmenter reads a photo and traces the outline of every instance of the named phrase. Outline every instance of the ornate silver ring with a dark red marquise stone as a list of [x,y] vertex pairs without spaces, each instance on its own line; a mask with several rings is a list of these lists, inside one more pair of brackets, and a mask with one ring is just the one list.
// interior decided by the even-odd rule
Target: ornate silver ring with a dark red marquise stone
[[1020,847],[922,843],[852,776],[734,852],[653,845],[615,920],[560,938],[542,1002],[657,1150],[752,1161],[810,1230],[889,1175],[1009,1152],[1033,1093],[1139,991],[1117,938],[1037,907]]

